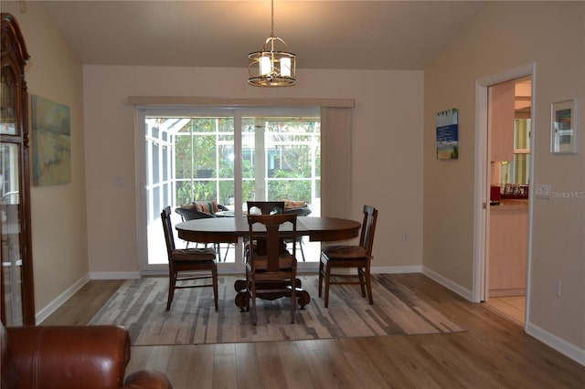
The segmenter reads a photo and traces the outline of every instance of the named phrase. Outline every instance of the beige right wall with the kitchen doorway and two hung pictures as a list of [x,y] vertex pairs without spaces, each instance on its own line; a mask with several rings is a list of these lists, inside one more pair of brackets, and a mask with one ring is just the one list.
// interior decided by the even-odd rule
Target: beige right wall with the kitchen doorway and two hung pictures
[[[473,287],[475,81],[536,62],[534,199],[527,331],[585,363],[585,3],[487,2],[425,68],[424,267],[461,289]],[[578,99],[578,153],[550,147],[550,104]],[[460,112],[460,158],[435,158],[434,115]],[[555,281],[562,295],[555,296]]]

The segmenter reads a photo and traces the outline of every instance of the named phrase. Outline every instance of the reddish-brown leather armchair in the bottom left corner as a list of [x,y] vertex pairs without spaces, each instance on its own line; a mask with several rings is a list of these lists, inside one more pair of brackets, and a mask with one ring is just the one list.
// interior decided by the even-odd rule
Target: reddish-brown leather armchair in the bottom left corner
[[2,389],[172,388],[165,374],[139,371],[124,382],[128,331],[119,326],[0,328]]

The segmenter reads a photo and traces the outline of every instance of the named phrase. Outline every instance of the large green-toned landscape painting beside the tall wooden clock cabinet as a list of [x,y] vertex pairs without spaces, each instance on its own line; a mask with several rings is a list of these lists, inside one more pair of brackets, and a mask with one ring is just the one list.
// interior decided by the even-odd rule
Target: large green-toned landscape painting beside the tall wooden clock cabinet
[[33,185],[71,182],[71,116],[69,107],[31,97]]

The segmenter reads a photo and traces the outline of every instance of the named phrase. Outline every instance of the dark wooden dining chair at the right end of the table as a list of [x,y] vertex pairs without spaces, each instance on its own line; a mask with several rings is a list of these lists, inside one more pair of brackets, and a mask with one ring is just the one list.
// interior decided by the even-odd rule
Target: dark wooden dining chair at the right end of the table
[[[372,284],[370,280],[370,262],[372,260],[372,247],[374,245],[374,233],[378,209],[370,205],[364,205],[364,221],[362,223],[358,246],[332,246],[326,247],[321,252],[319,262],[319,297],[323,279],[325,280],[325,308],[329,306],[329,286],[331,285],[359,285],[362,296],[367,297],[370,304],[374,303],[372,297]],[[355,274],[333,273],[333,268],[356,268]]]

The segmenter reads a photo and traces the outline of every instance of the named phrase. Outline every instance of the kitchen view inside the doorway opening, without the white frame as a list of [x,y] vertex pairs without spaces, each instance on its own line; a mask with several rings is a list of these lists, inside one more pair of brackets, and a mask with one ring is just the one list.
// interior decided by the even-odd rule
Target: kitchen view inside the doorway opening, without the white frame
[[531,78],[488,88],[489,257],[487,303],[524,324],[530,184]]

